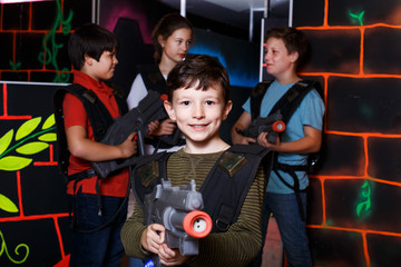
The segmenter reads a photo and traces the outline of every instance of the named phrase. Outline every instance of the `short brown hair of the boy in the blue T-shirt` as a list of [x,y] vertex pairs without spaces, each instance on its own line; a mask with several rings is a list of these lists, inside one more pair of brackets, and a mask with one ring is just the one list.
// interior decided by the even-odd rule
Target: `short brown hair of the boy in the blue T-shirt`
[[296,30],[292,27],[272,28],[266,31],[265,41],[267,41],[270,38],[283,40],[288,53],[299,53],[296,67],[300,67],[302,63],[304,63],[309,42],[303,31]]

